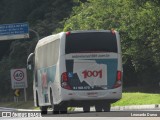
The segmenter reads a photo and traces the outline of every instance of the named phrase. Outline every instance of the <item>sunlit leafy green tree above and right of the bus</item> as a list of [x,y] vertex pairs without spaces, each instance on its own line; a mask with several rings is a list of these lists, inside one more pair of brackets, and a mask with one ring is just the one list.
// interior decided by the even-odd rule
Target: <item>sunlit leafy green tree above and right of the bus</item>
[[64,31],[116,29],[121,34],[124,83],[158,86],[159,16],[158,1],[88,0],[74,8]]

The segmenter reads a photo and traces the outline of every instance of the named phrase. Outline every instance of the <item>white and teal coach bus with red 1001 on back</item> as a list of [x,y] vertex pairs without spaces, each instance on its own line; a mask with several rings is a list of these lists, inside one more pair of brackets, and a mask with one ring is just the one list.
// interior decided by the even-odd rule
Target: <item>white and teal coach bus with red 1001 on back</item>
[[61,32],[37,43],[34,61],[34,103],[42,113],[66,113],[67,107],[95,106],[110,111],[122,97],[122,59],[117,31]]

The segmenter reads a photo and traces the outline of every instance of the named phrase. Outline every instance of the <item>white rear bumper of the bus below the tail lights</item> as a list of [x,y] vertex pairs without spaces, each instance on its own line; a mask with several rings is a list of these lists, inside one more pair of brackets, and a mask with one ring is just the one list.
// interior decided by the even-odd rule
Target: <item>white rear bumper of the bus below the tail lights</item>
[[122,97],[122,87],[109,90],[73,91],[62,89],[61,103],[69,106],[95,105],[97,102],[114,103]]

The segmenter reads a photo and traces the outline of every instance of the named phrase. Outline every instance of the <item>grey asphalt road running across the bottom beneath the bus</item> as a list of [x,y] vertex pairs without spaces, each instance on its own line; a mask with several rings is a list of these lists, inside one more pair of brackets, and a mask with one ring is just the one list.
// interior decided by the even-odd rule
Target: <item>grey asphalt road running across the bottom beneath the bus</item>
[[[0,112],[4,110],[1,109]],[[10,111],[6,110],[4,112],[13,112],[21,113],[24,115],[28,115],[28,113],[39,113],[36,111]],[[160,120],[160,110],[152,109],[152,110],[134,110],[134,111],[124,111],[117,110],[111,112],[94,112],[91,111],[89,113],[83,113],[82,111],[73,111],[68,114],[52,114],[51,111],[48,112],[47,115],[42,115],[43,117],[17,117],[14,114],[14,117],[0,117],[0,120]]]

